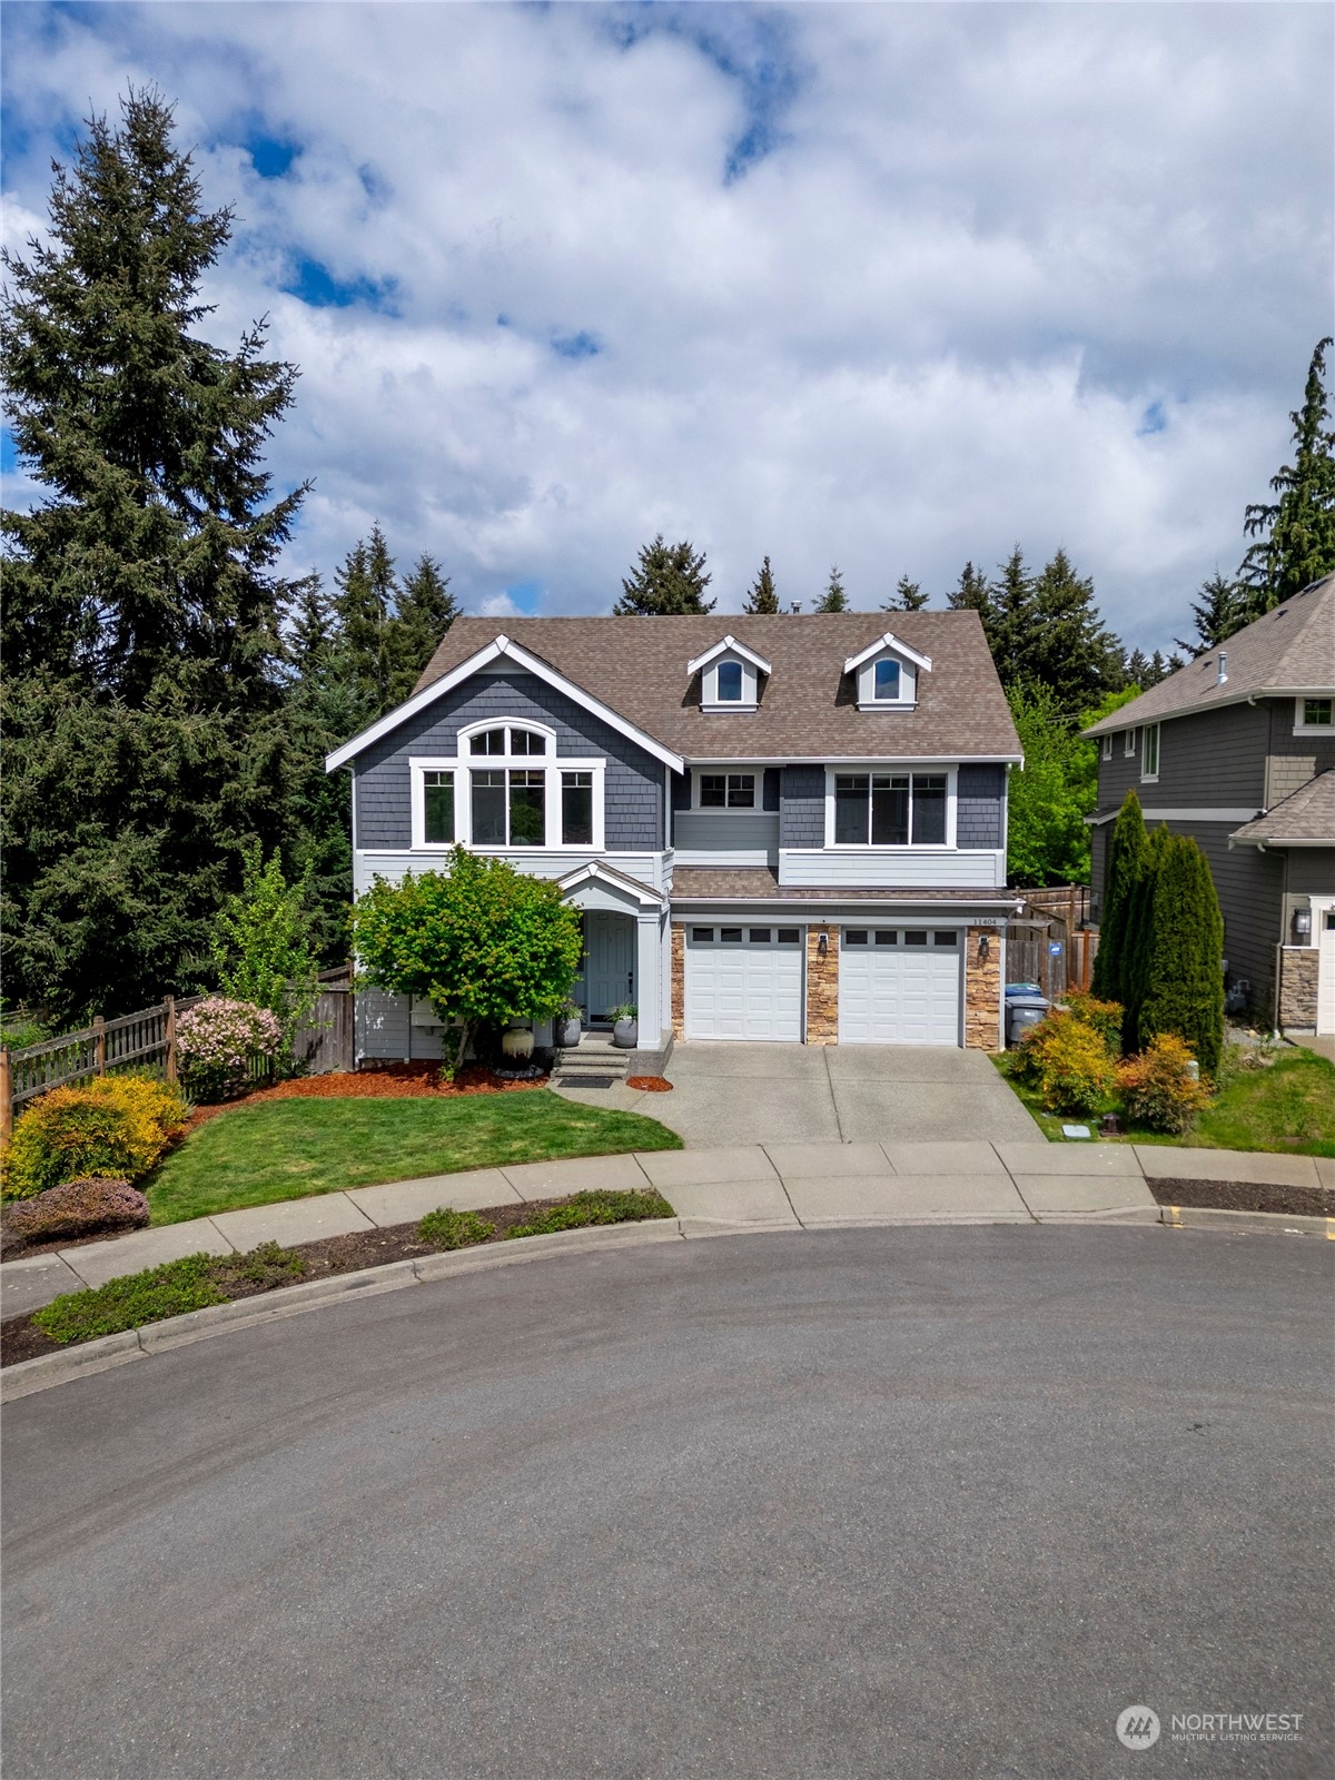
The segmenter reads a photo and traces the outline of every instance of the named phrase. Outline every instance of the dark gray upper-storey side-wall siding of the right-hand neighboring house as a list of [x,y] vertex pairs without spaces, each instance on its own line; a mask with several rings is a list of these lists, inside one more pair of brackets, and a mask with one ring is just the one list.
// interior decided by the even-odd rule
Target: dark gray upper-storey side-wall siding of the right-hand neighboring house
[[[1159,780],[1141,780],[1141,749],[1123,755],[1121,733],[1112,737],[1112,758],[1098,762],[1098,806],[1116,808],[1129,790],[1146,808],[1260,810],[1266,797],[1266,749],[1271,716],[1264,705],[1225,705],[1159,724]],[[1100,749],[1102,755],[1102,749]]]

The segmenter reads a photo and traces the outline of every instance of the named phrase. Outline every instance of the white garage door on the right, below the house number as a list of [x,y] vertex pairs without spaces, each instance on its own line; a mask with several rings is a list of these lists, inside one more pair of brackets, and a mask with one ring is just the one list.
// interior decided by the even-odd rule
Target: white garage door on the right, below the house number
[[844,927],[840,1045],[958,1045],[959,929]]

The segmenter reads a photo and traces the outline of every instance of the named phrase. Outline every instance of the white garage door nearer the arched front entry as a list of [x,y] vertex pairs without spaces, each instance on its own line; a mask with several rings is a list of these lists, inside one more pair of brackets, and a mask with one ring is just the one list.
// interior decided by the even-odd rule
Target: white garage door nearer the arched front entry
[[803,1036],[801,927],[687,927],[685,1036]]

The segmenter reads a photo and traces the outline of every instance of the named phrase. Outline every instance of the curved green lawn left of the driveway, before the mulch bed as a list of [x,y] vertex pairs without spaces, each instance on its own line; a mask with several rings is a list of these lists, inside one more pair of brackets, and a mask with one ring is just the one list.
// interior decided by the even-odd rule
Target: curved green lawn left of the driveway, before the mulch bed
[[657,1120],[545,1088],[457,1100],[262,1100],[190,1132],[142,1185],[153,1223],[167,1225],[461,1168],[680,1148]]

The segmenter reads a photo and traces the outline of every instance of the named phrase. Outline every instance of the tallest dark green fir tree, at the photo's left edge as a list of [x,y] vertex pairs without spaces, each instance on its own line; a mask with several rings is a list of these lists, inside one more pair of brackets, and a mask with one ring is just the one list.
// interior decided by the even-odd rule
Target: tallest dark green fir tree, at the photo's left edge
[[304,488],[262,452],[295,368],[201,338],[231,233],[171,107],[130,91],[5,255],[0,370],[21,465],[4,514],[7,995],[57,1018],[190,986],[240,849],[281,838],[276,575]]

